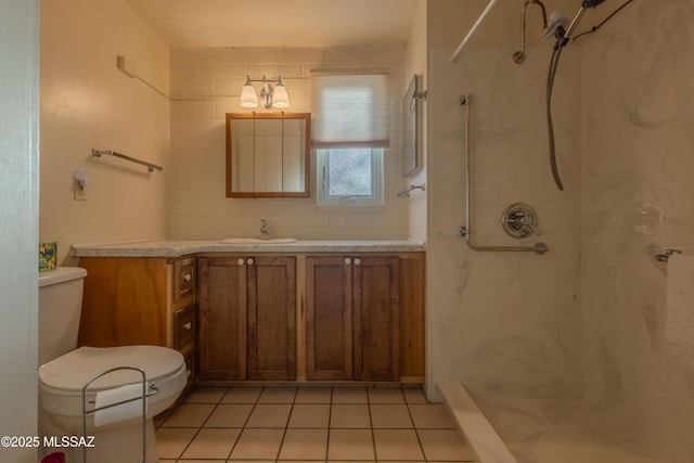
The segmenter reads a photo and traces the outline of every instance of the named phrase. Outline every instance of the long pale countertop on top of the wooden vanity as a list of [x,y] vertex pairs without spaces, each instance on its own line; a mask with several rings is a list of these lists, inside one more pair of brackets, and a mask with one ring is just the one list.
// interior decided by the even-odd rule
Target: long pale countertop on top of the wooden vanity
[[416,253],[414,240],[298,240],[292,243],[228,244],[221,240],[156,240],[103,245],[73,245],[75,257],[181,257],[196,253]]

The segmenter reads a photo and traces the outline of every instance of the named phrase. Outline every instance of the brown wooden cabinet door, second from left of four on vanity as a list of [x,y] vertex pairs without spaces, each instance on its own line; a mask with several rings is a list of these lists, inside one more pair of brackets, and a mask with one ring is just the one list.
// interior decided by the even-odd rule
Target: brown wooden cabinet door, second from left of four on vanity
[[248,380],[296,378],[296,258],[247,259]]

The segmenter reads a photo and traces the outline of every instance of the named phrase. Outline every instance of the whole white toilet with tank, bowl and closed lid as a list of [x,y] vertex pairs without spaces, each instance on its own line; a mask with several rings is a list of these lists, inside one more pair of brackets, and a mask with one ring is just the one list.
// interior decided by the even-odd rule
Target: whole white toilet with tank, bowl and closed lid
[[[144,462],[156,463],[152,417],[171,406],[183,390],[188,378],[183,356],[159,346],[77,348],[85,276],[85,269],[69,267],[39,276],[39,432],[57,442],[43,453],[60,450],[68,462],[80,463],[87,447],[89,463],[140,463],[144,437]],[[87,435],[79,439],[85,384],[120,366],[139,368],[145,373],[150,395],[144,429],[142,400],[136,400],[88,413]],[[141,394],[142,374],[118,370],[91,383],[87,410]]]

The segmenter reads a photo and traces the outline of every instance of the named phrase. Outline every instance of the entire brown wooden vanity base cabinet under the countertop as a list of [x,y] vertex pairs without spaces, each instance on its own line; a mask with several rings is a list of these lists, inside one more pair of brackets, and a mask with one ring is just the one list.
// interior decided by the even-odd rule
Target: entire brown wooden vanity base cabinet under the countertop
[[187,390],[194,382],[424,380],[424,253],[99,256],[79,265],[88,271],[79,345],[175,348]]

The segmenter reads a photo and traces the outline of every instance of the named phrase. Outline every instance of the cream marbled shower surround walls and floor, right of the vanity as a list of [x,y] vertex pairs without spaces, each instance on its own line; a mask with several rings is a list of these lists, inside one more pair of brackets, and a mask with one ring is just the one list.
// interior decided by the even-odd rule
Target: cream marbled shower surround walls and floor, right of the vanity
[[[588,12],[582,29],[622,3]],[[451,8],[430,3],[430,30],[452,21]],[[499,8],[490,30],[505,30],[520,5]],[[582,430],[574,445],[586,452],[619,448],[611,463],[694,454],[694,372],[666,343],[667,265],[654,259],[665,247],[694,250],[692,21],[692,0],[637,0],[565,49],[553,97],[563,192],[544,120],[551,44],[531,44],[517,65],[513,29],[451,63],[457,43],[429,33],[427,393],[463,383],[519,462],[556,458],[553,433]],[[473,95],[475,242],[541,241],[547,255],[473,252],[458,235],[462,94]],[[535,207],[541,236],[503,233],[514,202]]]

